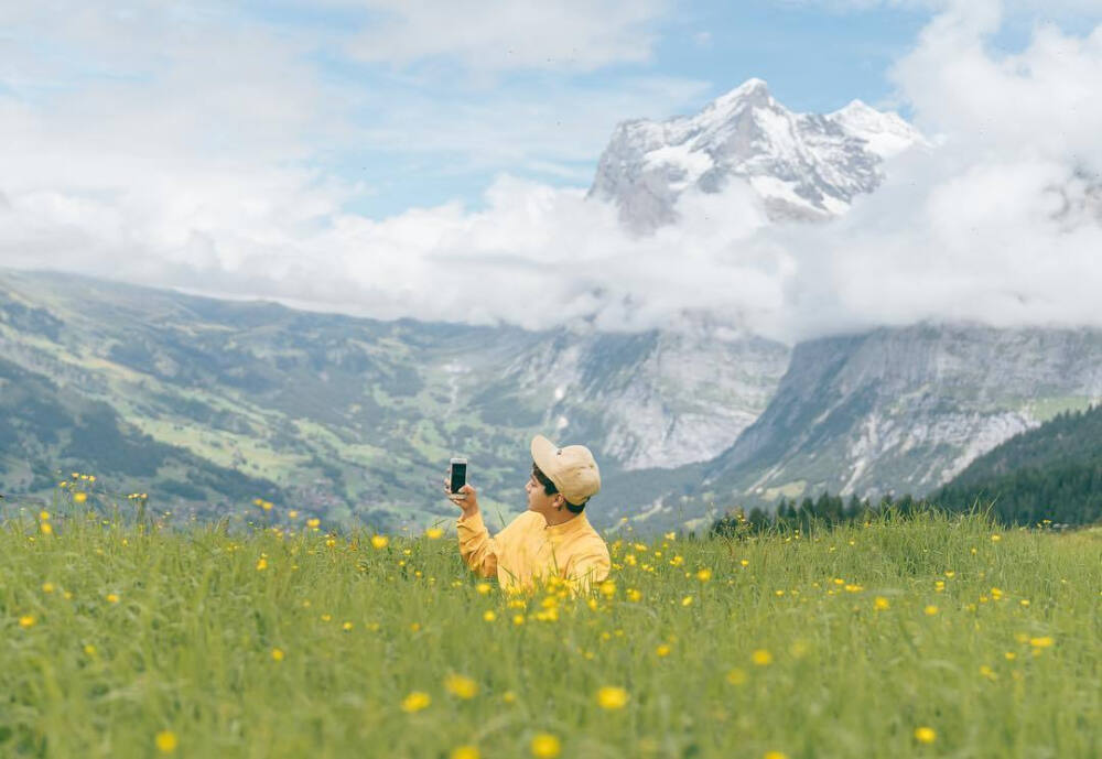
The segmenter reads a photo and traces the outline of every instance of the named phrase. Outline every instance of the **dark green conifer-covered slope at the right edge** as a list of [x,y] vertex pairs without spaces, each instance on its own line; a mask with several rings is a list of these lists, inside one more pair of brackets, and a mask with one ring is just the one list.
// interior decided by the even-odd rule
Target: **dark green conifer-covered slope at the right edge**
[[1057,414],[972,462],[931,500],[950,509],[994,503],[1008,523],[1102,520],[1102,405]]

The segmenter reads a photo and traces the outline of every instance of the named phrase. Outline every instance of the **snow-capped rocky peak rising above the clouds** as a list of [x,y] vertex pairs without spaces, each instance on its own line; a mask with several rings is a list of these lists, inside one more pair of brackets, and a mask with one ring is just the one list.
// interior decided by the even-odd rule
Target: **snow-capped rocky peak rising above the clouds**
[[925,144],[897,115],[860,100],[825,116],[793,113],[749,79],[695,116],[620,123],[590,196],[615,203],[646,232],[676,220],[683,193],[717,193],[738,178],[771,219],[822,220],[873,192],[885,159]]

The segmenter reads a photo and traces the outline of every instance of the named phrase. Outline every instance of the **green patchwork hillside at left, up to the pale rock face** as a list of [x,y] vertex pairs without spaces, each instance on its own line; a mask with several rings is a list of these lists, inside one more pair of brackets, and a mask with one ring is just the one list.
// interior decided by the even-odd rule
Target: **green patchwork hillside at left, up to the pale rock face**
[[75,470],[181,514],[266,498],[398,529],[454,512],[462,452],[508,512],[541,415],[475,390],[541,338],[0,272],[0,492]]

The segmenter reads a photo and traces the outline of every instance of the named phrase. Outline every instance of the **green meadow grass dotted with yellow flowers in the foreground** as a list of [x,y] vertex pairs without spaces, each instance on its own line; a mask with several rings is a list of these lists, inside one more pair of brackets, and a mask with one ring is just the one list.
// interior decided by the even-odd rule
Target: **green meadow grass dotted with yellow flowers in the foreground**
[[1102,755],[1098,531],[627,535],[572,599],[480,583],[453,536],[284,521],[17,512],[0,756]]

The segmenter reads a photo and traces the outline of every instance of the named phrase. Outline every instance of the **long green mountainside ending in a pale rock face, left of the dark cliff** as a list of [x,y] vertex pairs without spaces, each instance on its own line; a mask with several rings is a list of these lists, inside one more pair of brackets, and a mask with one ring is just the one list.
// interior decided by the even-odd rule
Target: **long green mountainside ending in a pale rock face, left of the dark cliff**
[[[650,468],[728,447],[789,355],[703,322],[642,334],[378,322],[28,272],[0,272],[0,406],[65,410],[0,432],[0,491],[41,496],[78,470],[180,509],[263,497],[380,527],[452,514],[436,482],[455,454],[489,510],[518,510],[537,432],[591,445],[602,499],[639,503]],[[71,444],[86,408],[99,432]],[[108,456],[120,440],[160,458]]]

